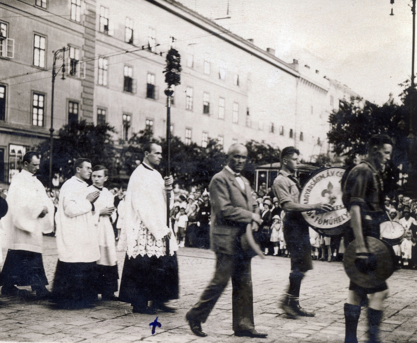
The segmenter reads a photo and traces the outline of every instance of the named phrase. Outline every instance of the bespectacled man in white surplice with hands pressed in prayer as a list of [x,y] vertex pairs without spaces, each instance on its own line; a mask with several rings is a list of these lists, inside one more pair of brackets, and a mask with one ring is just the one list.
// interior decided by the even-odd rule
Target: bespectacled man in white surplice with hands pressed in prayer
[[97,299],[96,261],[100,258],[93,216],[98,190],[88,189],[89,159],[74,162],[75,175],[65,181],[59,194],[56,221],[58,263],[53,283],[53,301],[65,308],[94,307]]

